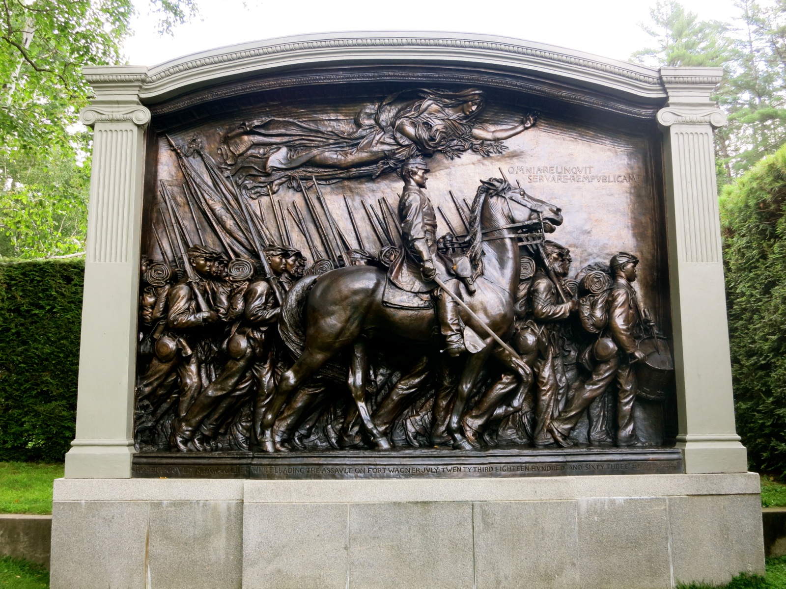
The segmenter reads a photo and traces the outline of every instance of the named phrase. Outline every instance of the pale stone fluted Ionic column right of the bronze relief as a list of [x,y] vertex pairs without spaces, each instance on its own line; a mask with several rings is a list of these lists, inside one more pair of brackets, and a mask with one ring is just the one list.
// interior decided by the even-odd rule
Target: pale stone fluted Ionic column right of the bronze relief
[[734,426],[710,101],[721,68],[661,68],[669,94],[658,112],[666,171],[671,316],[679,434],[687,473],[747,470]]

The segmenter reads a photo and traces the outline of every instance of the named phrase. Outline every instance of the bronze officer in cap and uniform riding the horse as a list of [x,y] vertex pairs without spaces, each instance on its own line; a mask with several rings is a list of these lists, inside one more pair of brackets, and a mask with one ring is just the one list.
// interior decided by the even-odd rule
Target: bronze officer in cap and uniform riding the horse
[[399,199],[402,252],[391,264],[388,276],[393,284],[405,291],[434,294],[440,331],[445,337],[445,352],[458,356],[466,347],[457,303],[433,281],[439,273],[447,287],[458,287],[458,280],[446,280],[450,274],[437,253],[437,218],[424,192],[428,171],[421,158],[409,159],[402,165],[404,188]]

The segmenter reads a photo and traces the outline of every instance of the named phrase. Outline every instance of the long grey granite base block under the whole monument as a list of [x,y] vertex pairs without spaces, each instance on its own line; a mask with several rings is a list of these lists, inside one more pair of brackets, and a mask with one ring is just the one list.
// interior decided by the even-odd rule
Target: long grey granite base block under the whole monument
[[758,493],[755,474],[60,479],[51,587],[719,584],[764,572]]

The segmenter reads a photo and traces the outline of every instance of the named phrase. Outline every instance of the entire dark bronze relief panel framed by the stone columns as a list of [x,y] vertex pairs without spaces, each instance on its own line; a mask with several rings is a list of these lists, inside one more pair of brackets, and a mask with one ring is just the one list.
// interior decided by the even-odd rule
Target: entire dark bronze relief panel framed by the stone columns
[[653,108],[434,67],[154,105],[134,476],[680,471]]

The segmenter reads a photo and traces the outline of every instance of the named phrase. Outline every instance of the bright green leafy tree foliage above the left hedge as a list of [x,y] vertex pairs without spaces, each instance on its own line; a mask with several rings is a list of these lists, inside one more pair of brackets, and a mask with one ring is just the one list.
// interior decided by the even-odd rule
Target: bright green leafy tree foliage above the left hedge
[[[0,0],[0,256],[83,248],[90,98],[83,65],[117,64],[131,0]],[[196,13],[193,0],[151,0],[161,32]],[[89,159],[87,160],[89,163]]]

